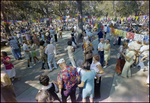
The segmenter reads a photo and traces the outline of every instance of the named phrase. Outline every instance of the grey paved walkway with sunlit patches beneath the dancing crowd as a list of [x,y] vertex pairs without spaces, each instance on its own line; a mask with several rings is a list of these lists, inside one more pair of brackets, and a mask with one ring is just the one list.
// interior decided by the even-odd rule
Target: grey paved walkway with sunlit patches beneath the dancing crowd
[[[56,55],[56,61],[61,57],[65,58],[67,65],[71,65],[68,60],[68,54],[64,51],[64,44],[67,41],[65,39],[70,37],[71,32],[63,32],[63,40],[57,43],[58,55]],[[96,34],[96,33],[95,33]],[[111,39],[111,44],[113,43],[113,37],[108,36]],[[98,40],[95,39],[93,42],[94,54],[97,53]],[[83,52],[80,48],[75,51],[75,59],[83,59]],[[108,67],[104,69],[105,73],[102,75],[101,81],[101,98],[96,100],[97,102],[148,102],[148,87],[144,85],[147,77],[147,71],[140,71],[138,68],[132,68],[132,78],[123,79],[115,73],[115,65],[117,62],[116,54],[117,48],[119,46],[111,45],[111,59],[108,62]],[[11,53],[9,53],[11,54]],[[38,54],[39,55],[39,54]],[[38,89],[41,88],[38,78],[41,74],[47,74],[50,80],[57,80],[57,74],[60,68],[55,69],[53,72],[48,72],[47,70],[41,70],[41,64],[39,63],[32,69],[26,68],[26,61],[20,60],[13,61],[15,65],[17,75],[21,78],[20,81],[14,81],[15,93],[17,95],[18,102],[35,102],[35,96]],[[2,67],[2,66],[1,66]],[[77,93],[78,95],[78,89]],[[61,98],[60,93],[58,93]],[[2,101],[2,100],[1,100]],[[70,101],[70,98],[68,98]]]

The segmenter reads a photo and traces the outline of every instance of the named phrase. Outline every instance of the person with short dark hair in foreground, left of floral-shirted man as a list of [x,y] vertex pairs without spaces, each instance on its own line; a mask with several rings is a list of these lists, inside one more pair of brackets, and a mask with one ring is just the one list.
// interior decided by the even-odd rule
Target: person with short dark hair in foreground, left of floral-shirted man
[[52,81],[52,83],[49,84],[49,77],[47,75],[41,75],[39,81],[43,87],[38,91],[38,94],[36,95],[36,101],[53,102],[54,100],[58,100],[61,102],[56,94],[59,92],[57,82]]

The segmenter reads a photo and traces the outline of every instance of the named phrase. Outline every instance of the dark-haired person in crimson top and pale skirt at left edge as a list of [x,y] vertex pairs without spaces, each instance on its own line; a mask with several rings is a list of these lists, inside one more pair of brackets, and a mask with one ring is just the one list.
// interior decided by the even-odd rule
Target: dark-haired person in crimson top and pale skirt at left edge
[[1,52],[1,62],[5,65],[5,72],[8,74],[10,80],[16,79],[16,71],[14,69],[13,64],[11,63],[10,57],[7,56],[7,53],[2,51]]

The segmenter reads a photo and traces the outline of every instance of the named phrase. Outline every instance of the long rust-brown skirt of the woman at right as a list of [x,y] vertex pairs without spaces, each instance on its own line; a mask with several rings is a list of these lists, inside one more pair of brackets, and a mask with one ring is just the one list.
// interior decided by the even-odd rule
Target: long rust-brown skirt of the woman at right
[[119,58],[119,59],[117,60],[115,72],[117,72],[118,74],[122,73],[122,69],[123,69],[123,67],[124,67],[124,64],[125,64],[125,60]]

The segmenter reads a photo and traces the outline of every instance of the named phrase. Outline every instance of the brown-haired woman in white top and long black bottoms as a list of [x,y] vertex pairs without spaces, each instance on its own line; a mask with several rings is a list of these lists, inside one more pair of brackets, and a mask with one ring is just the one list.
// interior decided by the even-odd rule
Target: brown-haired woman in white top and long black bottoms
[[95,87],[94,87],[94,98],[100,98],[101,97],[101,94],[100,94],[101,74],[104,73],[104,70],[103,70],[103,68],[101,66],[101,63],[99,61],[100,61],[100,56],[98,54],[93,55],[93,62],[91,64],[90,69],[91,70],[92,69],[95,70],[95,72],[99,76],[99,83],[96,83],[96,81],[97,81],[96,77],[94,79],[94,84],[95,84]]

